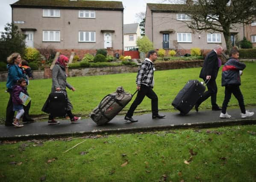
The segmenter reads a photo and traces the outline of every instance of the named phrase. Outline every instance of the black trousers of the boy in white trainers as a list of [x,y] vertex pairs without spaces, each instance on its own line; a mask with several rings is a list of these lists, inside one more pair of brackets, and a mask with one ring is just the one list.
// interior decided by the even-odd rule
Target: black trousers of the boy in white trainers
[[238,100],[240,110],[241,110],[242,113],[245,114],[244,97],[243,97],[243,94],[240,90],[239,85],[227,85],[225,87],[225,98],[224,98],[224,101],[222,103],[221,113],[223,113],[223,114],[226,113],[227,104],[230,101],[231,94],[233,94],[235,96],[235,98]]

